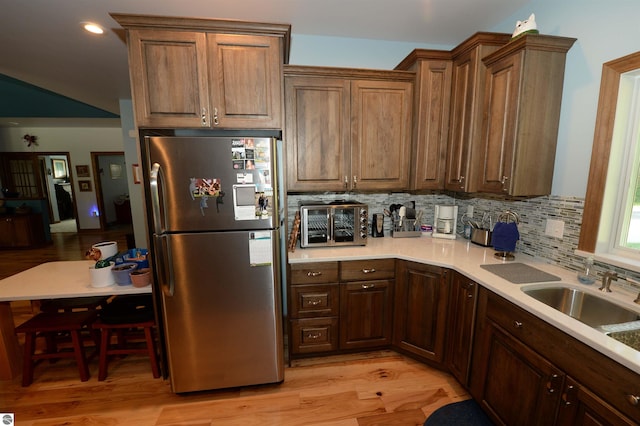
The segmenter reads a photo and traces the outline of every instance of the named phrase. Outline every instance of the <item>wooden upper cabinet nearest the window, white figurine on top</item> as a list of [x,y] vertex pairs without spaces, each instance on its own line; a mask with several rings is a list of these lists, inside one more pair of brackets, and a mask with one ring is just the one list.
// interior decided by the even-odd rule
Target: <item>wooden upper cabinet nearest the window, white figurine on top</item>
[[551,193],[565,58],[574,42],[527,35],[483,59],[479,192]]

